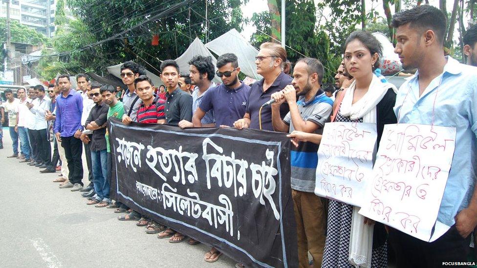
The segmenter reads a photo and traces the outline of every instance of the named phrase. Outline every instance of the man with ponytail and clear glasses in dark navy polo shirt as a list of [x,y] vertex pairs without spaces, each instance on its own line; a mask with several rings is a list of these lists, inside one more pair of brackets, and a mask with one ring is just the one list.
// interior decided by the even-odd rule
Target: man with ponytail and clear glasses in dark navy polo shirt
[[[257,73],[263,76],[263,79],[252,84],[246,113],[242,119],[234,123],[234,127],[238,129],[250,127],[273,131],[270,105],[261,109],[261,124],[259,113],[261,105],[270,101],[273,93],[279,92],[285,86],[291,84],[292,78],[283,72],[286,51],[279,44],[266,42],[260,45],[259,54],[255,58]],[[282,103],[280,106],[281,117],[284,118],[288,111],[288,104]]]

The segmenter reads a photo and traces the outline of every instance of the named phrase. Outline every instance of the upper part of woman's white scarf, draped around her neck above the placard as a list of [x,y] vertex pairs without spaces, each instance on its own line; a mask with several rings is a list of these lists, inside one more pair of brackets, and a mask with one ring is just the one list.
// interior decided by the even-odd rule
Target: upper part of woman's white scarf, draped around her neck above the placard
[[352,82],[341,102],[340,114],[349,117],[352,121],[363,118],[364,123],[376,123],[376,105],[383,99],[388,89],[392,88],[397,93],[397,88],[390,82],[381,82],[373,75],[368,92],[356,103],[353,103],[356,81]]

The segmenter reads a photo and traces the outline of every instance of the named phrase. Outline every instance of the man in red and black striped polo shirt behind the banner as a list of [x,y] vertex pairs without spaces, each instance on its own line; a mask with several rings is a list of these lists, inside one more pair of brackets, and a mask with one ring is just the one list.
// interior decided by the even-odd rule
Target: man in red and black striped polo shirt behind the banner
[[144,124],[164,124],[166,116],[164,106],[166,101],[154,96],[154,85],[151,79],[145,75],[141,75],[134,80],[136,92],[142,103],[137,110],[137,122]]

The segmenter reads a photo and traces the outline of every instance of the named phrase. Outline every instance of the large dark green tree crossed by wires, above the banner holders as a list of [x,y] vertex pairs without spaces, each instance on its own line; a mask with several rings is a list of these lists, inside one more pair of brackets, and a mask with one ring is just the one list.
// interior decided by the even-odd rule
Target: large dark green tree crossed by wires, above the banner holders
[[[241,31],[244,19],[240,6],[244,1],[208,0],[206,23],[204,1],[192,1],[174,12],[163,13],[180,1],[108,0],[92,4],[90,0],[66,0],[71,14],[78,20],[66,22],[64,33],[55,37],[54,49],[56,52],[75,52],[60,59],[66,60],[63,65],[58,59],[49,59],[44,66],[51,74],[55,70],[62,71],[58,66],[72,73],[88,70],[101,74],[106,72],[106,66],[133,60],[157,74],[160,61],[180,56],[195,37],[205,42],[232,28]],[[134,27],[159,15],[158,19]],[[118,34],[121,35],[111,38]],[[159,36],[158,46],[151,45],[155,34]],[[71,43],[60,39],[70,40]],[[76,51],[92,42],[104,40],[107,41],[100,45]]]

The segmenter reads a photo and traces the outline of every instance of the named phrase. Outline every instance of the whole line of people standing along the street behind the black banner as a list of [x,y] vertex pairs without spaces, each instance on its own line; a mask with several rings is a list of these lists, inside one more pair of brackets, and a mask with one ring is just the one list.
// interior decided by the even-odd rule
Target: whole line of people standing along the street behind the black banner
[[[87,205],[124,213],[118,220],[137,221],[137,226],[146,227],[147,233],[158,234],[160,239],[196,245],[200,242],[187,234],[110,199],[108,118],[118,118],[124,124],[285,132],[294,144],[290,180],[300,267],[309,266],[309,253],[314,267],[385,268],[391,252],[388,247],[399,268],[465,262],[477,225],[477,67],[473,67],[477,66],[477,26],[470,27],[463,38],[467,63],[472,66],[445,56],[446,16],[439,9],[422,5],[396,13],[392,26],[396,29],[395,52],[404,68],[417,69],[401,89],[375,74],[382,56],[379,41],[366,31],[356,31],[344,45],[344,59],[335,76],[336,92],[322,88],[325,71],[319,59],[298,60],[291,77],[284,72],[290,68],[285,49],[269,42],[260,45],[255,62],[263,79],[251,85],[239,80],[237,56],[226,53],[218,57],[215,66],[211,57],[195,56],[187,74],[180,72],[175,61],[163,61],[160,77],[164,85],[159,88],[140,65],[124,62],[124,92],[90,81],[86,74],[76,76],[76,89],[68,75],[60,75],[48,86],[47,94],[41,85],[28,91],[19,89],[18,98],[5,90],[7,101],[2,105],[1,120],[3,123],[4,115],[8,116],[13,140],[9,157],[39,167],[41,173],[56,172],[61,161],[61,174],[54,182],[60,183],[60,188],[83,192]],[[222,83],[212,82],[215,75]],[[261,108],[270,100],[274,103]],[[451,229],[429,243],[366,218],[363,224],[374,226],[372,254],[365,260],[354,254],[350,246],[352,221],[357,214],[353,212],[359,208],[314,194],[319,161],[316,152],[324,125],[330,121],[374,123],[378,144],[385,124],[455,126],[454,159],[437,218]],[[53,155],[50,141],[54,143]],[[83,151],[87,186],[82,181]],[[212,247],[204,260],[215,262],[221,255]]]

